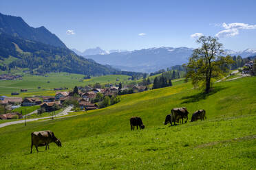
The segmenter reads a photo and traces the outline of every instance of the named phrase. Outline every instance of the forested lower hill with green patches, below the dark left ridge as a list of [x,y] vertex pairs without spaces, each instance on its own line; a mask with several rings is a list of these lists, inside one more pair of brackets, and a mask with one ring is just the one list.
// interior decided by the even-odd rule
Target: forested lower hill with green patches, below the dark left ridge
[[33,73],[63,71],[107,75],[116,70],[76,55],[67,48],[45,45],[0,33],[0,69],[28,68]]

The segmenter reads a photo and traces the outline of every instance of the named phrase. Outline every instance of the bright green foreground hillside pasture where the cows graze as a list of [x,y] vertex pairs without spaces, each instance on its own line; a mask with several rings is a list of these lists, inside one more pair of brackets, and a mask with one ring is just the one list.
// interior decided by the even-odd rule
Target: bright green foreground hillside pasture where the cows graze
[[[191,84],[122,96],[77,117],[0,128],[0,169],[255,169],[256,77],[214,84],[204,96]],[[207,121],[163,125],[171,108],[204,108]],[[191,113],[189,119],[191,119]],[[131,132],[140,116],[145,130]],[[63,147],[30,153],[30,133],[52,130]]]

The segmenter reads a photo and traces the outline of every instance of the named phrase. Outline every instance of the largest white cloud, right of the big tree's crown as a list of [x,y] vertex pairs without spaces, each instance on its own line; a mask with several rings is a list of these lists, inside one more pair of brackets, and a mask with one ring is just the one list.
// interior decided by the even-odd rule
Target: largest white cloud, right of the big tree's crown
[[239,34],[239,29],[256,29],[256,25],[248,25],[247,23],[222,23],[224,30],[215,34],[215,36],[222,38],[225,36],[235,36]]

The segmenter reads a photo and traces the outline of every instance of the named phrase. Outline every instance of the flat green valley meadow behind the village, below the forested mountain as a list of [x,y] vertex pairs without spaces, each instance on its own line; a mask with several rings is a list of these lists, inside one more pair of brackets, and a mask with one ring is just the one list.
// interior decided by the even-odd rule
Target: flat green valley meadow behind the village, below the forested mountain
[[[128,75],[104,75],[100,77],[92,77],[90,80],[83,81],[84,75],[72,73],[49,73],[47,77],[41,75],[23,76],[23,80],[1,80],[0,81],[0,95],[8,95],[12,92],[20,93],[21,88],[28,89],[28,92],[20,93],[21,97],[28,97],[32,95],[55,95],[53,88],[67,87],[74,88],[74,86],[85,86],[87,84],[95,84],[96,82],[107,83],[116,82],[116,78],[120,81],[127,80]],[[47,83],[47,82],[50,83]],[[117,82],[119,83],[119,82]],[[41,87],[40,89],[38,87]]]

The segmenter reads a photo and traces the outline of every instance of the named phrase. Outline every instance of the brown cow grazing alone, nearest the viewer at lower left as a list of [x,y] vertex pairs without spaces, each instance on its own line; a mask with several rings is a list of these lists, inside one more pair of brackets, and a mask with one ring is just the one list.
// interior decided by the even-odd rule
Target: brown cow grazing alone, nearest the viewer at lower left
[[49,143],[56,143],[58,147],[61,147],[61,141],[54,136],[54,133],[50,130],[45,131],[39,131],[39,132],[32,132],[31,133],[31,151],[30,154],[32,154],[32,148],[33,145],[36,147],[36,151],[39,152],[39,149],[37,147],[45,146],[45,150],[49,148]]

